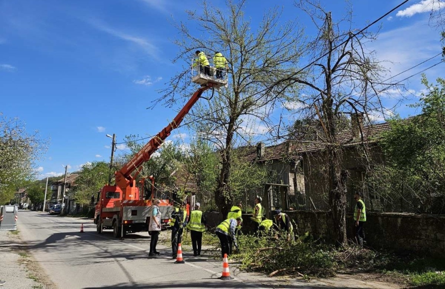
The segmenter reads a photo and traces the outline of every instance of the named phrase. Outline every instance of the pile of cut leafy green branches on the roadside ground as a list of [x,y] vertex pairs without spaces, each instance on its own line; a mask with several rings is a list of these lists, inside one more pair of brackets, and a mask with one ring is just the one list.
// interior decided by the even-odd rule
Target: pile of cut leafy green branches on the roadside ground
[[333,276],[336,268],[332,249],[318,244],[309,234],[297,238],[295,242],[275,240],[272,235],[260,238],[242,235],[238,238],[238,246],[241,252],[234,258],[241,260],[243,269],[268,274],[279,269],[298,267],[298,272],[302,274]]

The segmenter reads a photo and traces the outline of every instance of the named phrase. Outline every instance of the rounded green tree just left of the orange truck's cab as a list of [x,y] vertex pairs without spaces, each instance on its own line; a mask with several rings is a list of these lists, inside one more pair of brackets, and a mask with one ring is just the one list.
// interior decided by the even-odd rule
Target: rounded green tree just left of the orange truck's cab
[[103,161],[84,165],[73,188],[76,203],[88,205],[91,202],[91,195],[108,182],[109,171],[108,164]]

